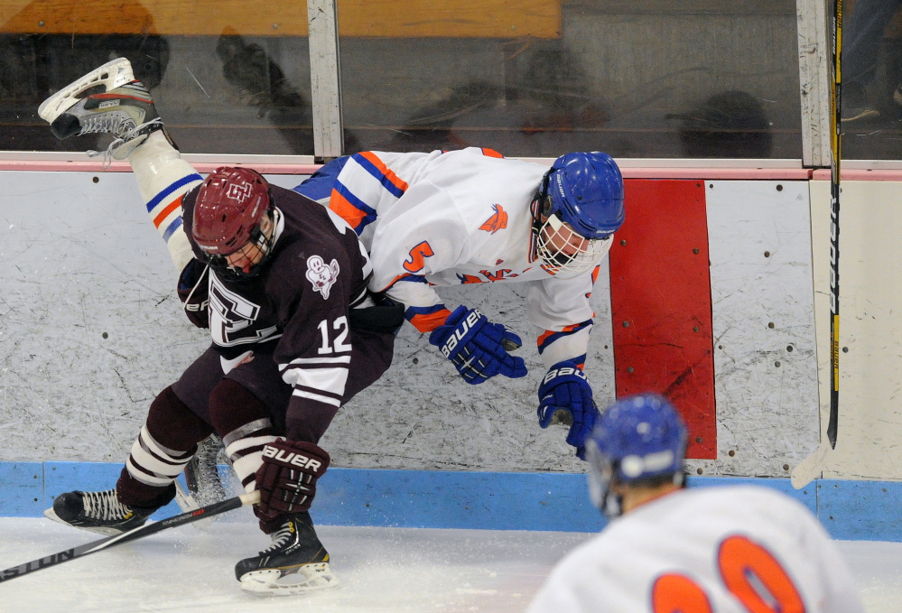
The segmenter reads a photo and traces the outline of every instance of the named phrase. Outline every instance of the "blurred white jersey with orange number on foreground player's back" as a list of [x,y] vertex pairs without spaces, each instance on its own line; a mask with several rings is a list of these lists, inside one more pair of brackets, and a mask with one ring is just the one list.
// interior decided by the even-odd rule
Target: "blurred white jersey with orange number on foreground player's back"
[[552,571],[527,613],[861,613],[836,545],[769,488],[684,489],[611,521]]

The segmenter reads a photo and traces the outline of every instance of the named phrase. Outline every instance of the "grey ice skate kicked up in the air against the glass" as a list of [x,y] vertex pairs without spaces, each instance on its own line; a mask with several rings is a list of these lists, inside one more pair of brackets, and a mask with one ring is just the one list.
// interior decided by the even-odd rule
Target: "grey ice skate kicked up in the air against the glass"
[[108,61],[60,89],[42,102],[38,115],[60,140],[94,133],[116,136],[106,152],[116,160],[125,160],[148,135],[163,129],[150,92],[135,79],[126,58]]

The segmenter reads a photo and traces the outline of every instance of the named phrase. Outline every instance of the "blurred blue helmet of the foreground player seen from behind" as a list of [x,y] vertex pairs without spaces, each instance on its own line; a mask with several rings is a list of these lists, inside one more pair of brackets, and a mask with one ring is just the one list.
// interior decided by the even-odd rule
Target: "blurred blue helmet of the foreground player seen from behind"
[[611,484],[683,484],[686,426],[664,396],[628,396],[601,414],[586,441],[592,502],[608,516],[620,515]]

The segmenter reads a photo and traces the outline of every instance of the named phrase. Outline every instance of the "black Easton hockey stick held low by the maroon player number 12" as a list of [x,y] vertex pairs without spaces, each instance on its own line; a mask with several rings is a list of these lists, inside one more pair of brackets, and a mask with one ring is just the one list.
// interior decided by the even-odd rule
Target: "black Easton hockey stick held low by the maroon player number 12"
[[188,513],[175,515],[169,519],[163,519],[163,521],[153,522],[153,524],[141,525],[122,534],[107,536],[107,538],[100,539],[99,541],[85,543],[60,553],[52,553],[51,555],[33,560],[32,562],[25,562],[24,564],[8,568],[5,571],[0,571],[0,582],[21,577],[29,572],[41,571],[42,569],[61,564],[62,562],[69,562],[70,560],[75,560],[76,558],[88,555],[88,553],[97,553],[104,549],[115,547],[118,544],[135,541],[139,538],[144,538],[144,536],[156,534],[178,525],[191,524],[191,522],[196,522],[204,517],[226,513],[227,511],[245,505],[255,505],[258,502],[260,502],[260,492],[255,491],[250,494],[242,494],[238,497],[229,498],[228,500],[223,500],[222,502],[209,506],[203,506],[197,510],[189,511]]

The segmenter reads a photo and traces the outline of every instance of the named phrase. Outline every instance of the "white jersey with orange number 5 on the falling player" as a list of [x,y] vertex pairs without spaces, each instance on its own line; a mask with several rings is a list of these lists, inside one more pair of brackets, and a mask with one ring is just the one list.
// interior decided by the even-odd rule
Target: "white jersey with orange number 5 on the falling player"
[[527,317],[543,330],[545,364],[582,363],[598,268],[561,279],[536,258],[532,206],[547,170],[476,147],[357,153],[341,168],[329,206],[369,250],[370,289],[405,304],[418,330],[434,330],[448,315],[433,285],[527,283]]

